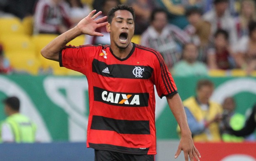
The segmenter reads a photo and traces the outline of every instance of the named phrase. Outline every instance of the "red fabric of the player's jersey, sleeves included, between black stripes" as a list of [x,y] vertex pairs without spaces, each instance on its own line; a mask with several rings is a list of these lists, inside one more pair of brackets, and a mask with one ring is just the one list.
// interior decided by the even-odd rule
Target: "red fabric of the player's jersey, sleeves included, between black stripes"
[[[106,51],[107,59],[102,55],[102,50]],[[160,54],[150,48],[136,45],[128,59],[120,60],[111,53],[109,45],[83,45],[80,47],[66,47],[62,50],[62,57],[60,58],[62,59],[60,64],[68,69],[73,69],[85,74],[88,79],[90,114],[88,120],[87,146],[89,147],[89,143],[93,143],[111,144],[128,148],[146,147],[149,148],[147,154],[156,154],[154,85],[156,85],[158,95],[161,97],[177,93],[177,88],[171,73],[168,72],[166,65],[163,64],[164,60],[160,57]],[[105,63],[108,66],[117,64],[134,66],[134,68],[136,66],[150,67],[150,69],[152,68],[152,76],[147,79],[138,79],[135,78],[135,75],[133,75],[131,71],[128,71],[128,69],[122,73],[123,76],[130,74],[133,78],[103,76],[99,73],[92,72],[93,61],[95,60],[100,63]],[[113,72],[110,70],[110,67],[109,71],[110,74]],[[120,104],[115,106],[113,104],[95,101],[95,95],[102,97],[102,93],[94,93],[94,87],[117,93],[148,93],[148,106],[127,107],[128,105],[126,105],[125,107]],[[149,121],[150,134],[122,134],[116,131],[91,129],[93,116],[103,116],[128,121]],[[123,151],[117,149],[117,152]],[[133,153],[131,152],[131,154]]]

